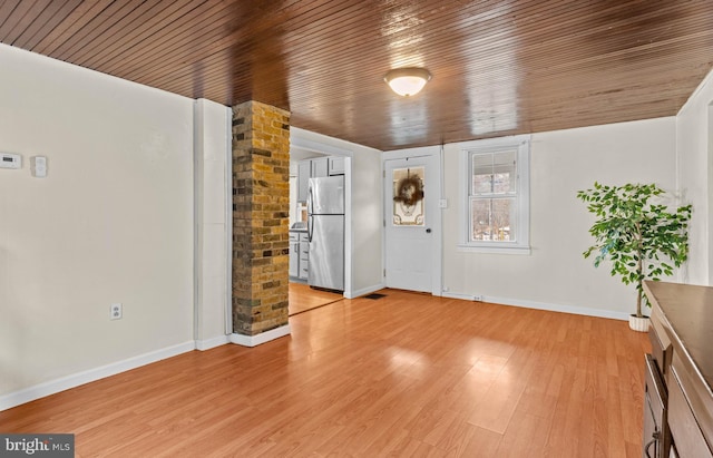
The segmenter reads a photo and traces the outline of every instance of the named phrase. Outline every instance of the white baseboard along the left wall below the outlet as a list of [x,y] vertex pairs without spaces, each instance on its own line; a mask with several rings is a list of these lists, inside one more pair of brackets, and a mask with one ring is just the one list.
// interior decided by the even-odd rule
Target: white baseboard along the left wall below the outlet
[[177,345],[139,354],[137,357],[113,362],[99,368],[89,369],[84,372],[74,373],[71,376],[62,377],[57,380],[39,383],[20,391],[1,396],[0,411],[11,409],[16,406],[20,406],[36,399],[45,398],[46,396],[55,394],[70,388],[79,387],[80,384],[89,383],[110,376],[116,376],[120,372],[126,372],[128,370],[139,368],[141,366],[150,364],[152,362],[165,360],[177,354],[187,353],[193,350],[195,350],[194,341],[179,343]]

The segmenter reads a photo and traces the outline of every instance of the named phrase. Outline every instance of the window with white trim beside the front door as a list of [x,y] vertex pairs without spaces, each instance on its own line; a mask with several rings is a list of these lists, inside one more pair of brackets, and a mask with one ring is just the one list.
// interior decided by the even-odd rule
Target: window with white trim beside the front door
[[460,146],[459,247],[529,254],[529,136]]

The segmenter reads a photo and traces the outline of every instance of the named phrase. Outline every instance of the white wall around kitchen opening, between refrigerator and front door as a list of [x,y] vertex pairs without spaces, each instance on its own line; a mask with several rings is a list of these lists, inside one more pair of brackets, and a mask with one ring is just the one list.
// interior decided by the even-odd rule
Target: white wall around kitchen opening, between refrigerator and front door
[[351,157],[346,182],[351,203],[346,209],[352,224],[346,236],[351,237],[352,262],[345,270],[350,288],[344,294],[353,298],[383,288],[381,152],[296,127],[291,128],[290,142],[297,150]]

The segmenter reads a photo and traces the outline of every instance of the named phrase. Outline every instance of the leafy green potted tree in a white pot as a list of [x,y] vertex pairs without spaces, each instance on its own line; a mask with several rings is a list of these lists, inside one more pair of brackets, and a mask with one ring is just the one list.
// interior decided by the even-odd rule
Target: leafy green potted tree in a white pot
[[692,206],[670,209],[658,198],[664,194],[655,184],[605,186],[595,183],[594,188],[577,192],[577,198],[596,215],[589,228],[595,244],[583,255],[589,257],[596,252],[595,267],[609,260],[612,276],[619,275],[624,284],[636,286],[636,313],[629,316],[629,327],[636,331],[648,330],[642,304],[651,304],[644,294],[643,281],[673,275],[673,267],[681,266],[688,257]]

